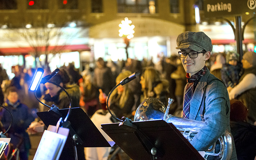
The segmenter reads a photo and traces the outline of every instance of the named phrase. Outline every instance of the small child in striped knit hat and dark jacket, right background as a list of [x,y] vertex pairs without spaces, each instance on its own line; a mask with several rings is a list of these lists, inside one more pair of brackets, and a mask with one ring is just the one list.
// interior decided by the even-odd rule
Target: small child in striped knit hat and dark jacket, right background
[[228,52],[226,62],[220,70],[221,80],[226,85],[227,90],[230,91],[238,84],[239,78],[243,74],[243,67],[236,52]]

